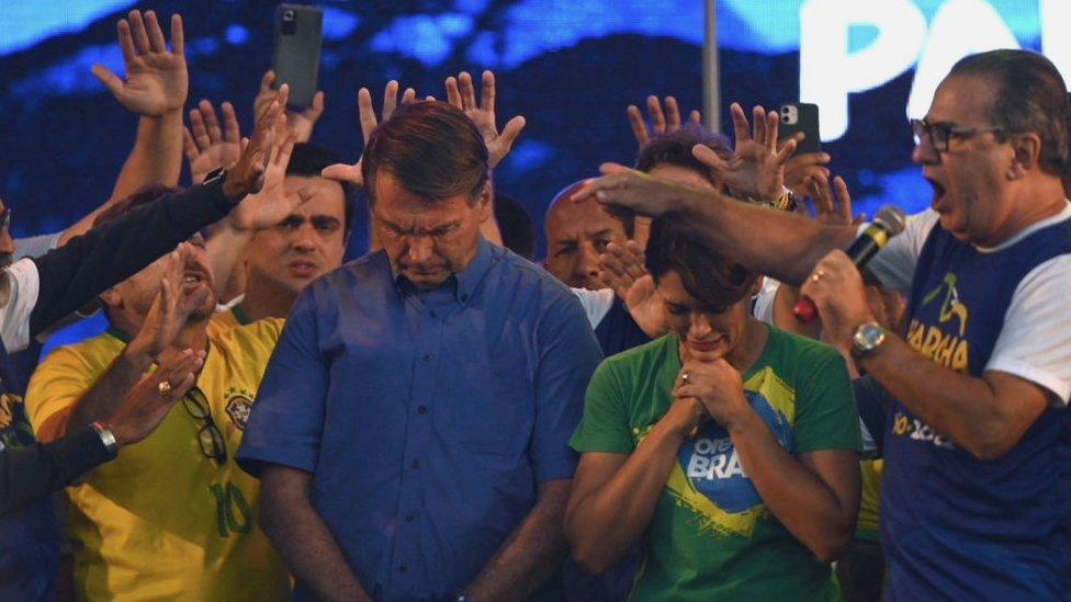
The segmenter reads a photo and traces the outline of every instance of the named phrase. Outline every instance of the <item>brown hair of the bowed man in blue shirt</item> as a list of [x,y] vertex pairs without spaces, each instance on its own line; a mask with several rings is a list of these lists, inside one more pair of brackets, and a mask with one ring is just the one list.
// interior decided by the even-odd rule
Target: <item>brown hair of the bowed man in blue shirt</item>
[[369,203],[375,203],[381,171],[429,201],[464,194],[475,202],[487,184],[487,147],[460,109],[440,101],[410,102],[380,124],[364,146],[361,174]]

